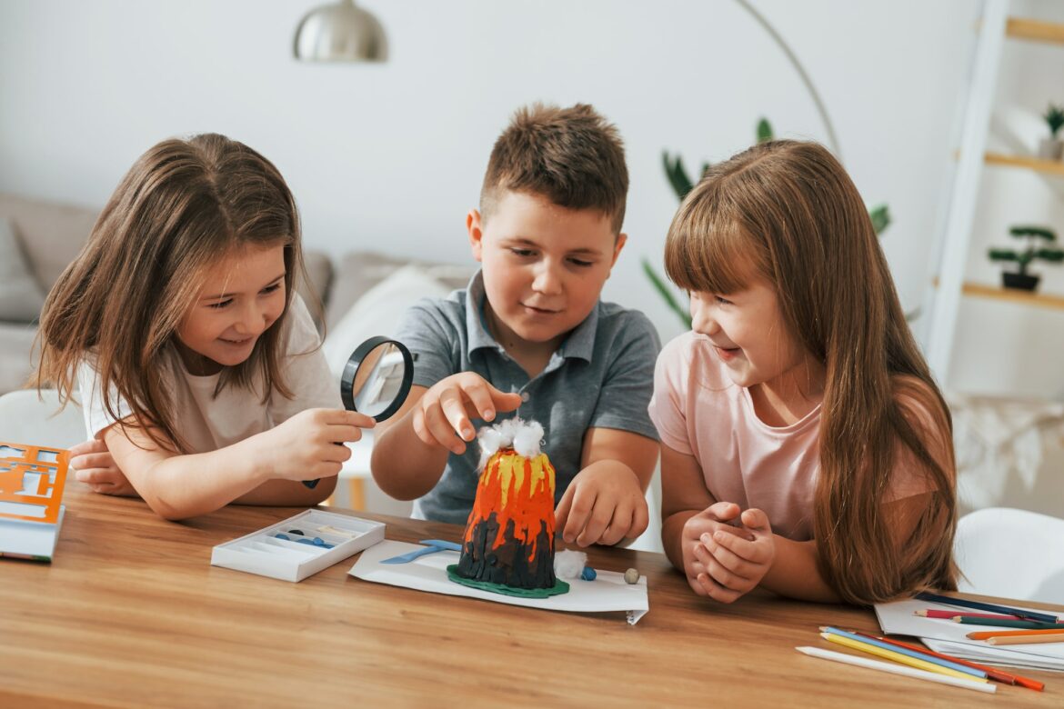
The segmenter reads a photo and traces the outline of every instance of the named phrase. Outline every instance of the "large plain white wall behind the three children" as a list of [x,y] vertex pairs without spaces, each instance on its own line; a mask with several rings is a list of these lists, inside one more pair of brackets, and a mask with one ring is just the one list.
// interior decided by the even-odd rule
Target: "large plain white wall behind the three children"
[[[921,301],[944,202],[977,0],[753,0],[805,64],[884,237],[902,300]],[[626,253],[605,297],[680,326],[639,271],[676,208],[663,149],[694,168],[746,147],[757,119],[825,139],[812,101],[737,3],[365,0],[383,66],[292,58],[315,0],[4,0],[0,189],[101,205],[133,159],[218,131],[286,175],[309,244],[469,258],[463,220],[518,105],[588,101],[626,138]]]

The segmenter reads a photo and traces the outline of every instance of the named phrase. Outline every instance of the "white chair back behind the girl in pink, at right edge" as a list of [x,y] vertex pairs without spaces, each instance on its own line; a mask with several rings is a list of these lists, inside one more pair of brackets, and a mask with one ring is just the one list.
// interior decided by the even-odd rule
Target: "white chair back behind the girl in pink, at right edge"
[[960,590],[1064,605],[1064,520],[1007,507],[979,509],[957,525]]

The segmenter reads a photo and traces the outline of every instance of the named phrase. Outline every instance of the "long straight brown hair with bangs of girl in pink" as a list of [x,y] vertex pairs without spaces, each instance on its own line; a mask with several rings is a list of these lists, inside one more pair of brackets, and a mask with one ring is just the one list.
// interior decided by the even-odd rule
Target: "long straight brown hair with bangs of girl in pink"
[[[821,572],[842,597],[955,588],[949,409],[838,161],[816,144],[777,140],[714,166],[672,220],[665,268],[680,287],[712,293],[763,278],[793,336],[824,364],[813,526]],[[934,491],[900,546],[881,509],[899,449]]]

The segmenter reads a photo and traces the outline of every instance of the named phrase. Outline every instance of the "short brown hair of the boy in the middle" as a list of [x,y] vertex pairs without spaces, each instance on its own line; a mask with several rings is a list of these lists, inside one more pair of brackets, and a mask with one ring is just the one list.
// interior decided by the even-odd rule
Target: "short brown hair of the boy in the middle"
[[480,190],[485,220],[500,190],[541,195],[567,209],[597,209],[619,233],[628,167],[617,128],[586,103],[518,108],[487,162]]

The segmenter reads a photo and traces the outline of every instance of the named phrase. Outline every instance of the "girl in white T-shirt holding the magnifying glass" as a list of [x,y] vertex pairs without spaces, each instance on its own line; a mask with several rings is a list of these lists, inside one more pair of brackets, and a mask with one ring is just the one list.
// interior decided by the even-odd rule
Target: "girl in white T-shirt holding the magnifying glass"
[[343,408],[293,289],[300,249],[288,186],[247,146],[204,134],[137,159],[40,320],[37,385],[77,387],[95,439],[80,479],[167,519],[332,492],[351,455],[334,443],[373,421]]

